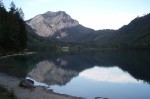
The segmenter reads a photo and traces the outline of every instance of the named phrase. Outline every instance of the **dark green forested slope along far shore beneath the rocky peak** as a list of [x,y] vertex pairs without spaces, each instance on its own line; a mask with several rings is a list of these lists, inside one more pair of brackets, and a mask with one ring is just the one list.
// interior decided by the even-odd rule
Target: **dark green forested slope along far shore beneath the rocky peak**
[[[27,49],[30,51],[46,51],[46,52],[62,52],[63,47],[68,47],[70,51],[83,51],[91,47],[89,44],[71,43],[71,42],[60,42],[56,39],[49,39],[38,36],[35,31],[30,27],[26,26],[28,33]],[[93,45],[92,45],[93,46]]]

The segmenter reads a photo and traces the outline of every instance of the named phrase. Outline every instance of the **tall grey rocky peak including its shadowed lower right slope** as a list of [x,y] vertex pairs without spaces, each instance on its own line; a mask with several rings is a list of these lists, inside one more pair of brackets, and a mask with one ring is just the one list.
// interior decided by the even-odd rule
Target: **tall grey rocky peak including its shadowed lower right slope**
[[[93,29],[80,25],[77,20],[72,19],[64,11],[48,11],[27,20],[26,23],[34,29],[39,36],[59,39],[63,42],[76,42],[75,39],[70,39],[72,39],[72,37],[78,38],[94,31]],[[67,39],[65,37],[67,37]]]

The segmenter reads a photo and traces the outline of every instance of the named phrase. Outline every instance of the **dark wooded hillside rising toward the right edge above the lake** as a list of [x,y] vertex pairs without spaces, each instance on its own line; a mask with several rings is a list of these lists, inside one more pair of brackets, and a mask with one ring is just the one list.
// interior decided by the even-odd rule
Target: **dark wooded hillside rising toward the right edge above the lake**
[[[150,49],[150,14],[137,17],[113,33],[99,34],[96,43],[102,47],[120,49]],[[102,38],[102,35],[105,37]]]

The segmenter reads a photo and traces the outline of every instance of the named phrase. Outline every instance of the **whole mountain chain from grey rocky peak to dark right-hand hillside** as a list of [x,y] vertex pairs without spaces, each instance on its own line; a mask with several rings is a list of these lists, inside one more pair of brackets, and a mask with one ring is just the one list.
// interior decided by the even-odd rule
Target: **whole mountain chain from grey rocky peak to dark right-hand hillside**
[[59,42],[94,44],[99,48],[150,49],[150,14],[118,30],[98,30],[79,24],[63,11],[46,12],[26,22],[36,34]]

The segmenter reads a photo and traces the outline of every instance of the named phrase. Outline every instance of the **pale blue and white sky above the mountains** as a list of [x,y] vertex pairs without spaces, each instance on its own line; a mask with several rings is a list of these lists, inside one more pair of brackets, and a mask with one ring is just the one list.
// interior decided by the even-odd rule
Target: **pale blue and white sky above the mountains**
[[[3,0],[8,9],[12,0]],[[119,29],[137,16],[150,13],[150,0],[13,0],[25,20],[47,11],[65,11],[85,27]]]

